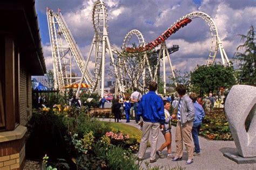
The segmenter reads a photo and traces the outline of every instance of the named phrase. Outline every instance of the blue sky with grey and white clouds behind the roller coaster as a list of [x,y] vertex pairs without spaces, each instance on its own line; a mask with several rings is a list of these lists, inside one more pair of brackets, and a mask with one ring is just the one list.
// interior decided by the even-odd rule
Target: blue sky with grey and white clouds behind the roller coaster
[[[58,8],[71,30],[83,56],[92,43],[94,30],[91,11],[95,0],[44,0],[36,1],[39,27],[42,36],[46,68],[52,69],[52,57],[46,7],[57,12]],[[246,35],[250,26],[256,26],[256,0],[105,0],[108,9],[108,31],[110,43],[120,47],[126,34],[137,29],[145,42],[151,42],[184,15],[201,11],[212,17],[219,31],[227,56],[232,60],[237,46],[241,44],[238,35]],[[133,40],[133,39],[132,39]],[[133,42],[131,42],[133,43]],[[134,39],[134,43],[136,39]],[[194,67],[206,63],[211,48],[211,32],[206,22],[195,18],[166,40],[167,47],[179,45],[179,51],[171,57],[174,69],[181,72],[193,71]],[[217,53],[216,62],[220,62]],[[109,59],[106,59],[109,67]],[[166,59],[166,63],[167,59]],[[93,61],[89,68],[93,70]],[[167,76],[170,66],[166,64]],[[111,79],[111,78],[109,78]]]

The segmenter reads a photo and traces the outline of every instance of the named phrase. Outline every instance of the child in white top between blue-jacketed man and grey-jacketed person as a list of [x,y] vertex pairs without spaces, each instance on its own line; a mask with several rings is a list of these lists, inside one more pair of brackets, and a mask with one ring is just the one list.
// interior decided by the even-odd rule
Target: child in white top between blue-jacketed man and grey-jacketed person
[[164,144],[161,145],[161,147],[157,150],[157,155],[159,158],[164,158],[163,149],[167,147],[167,159],[172,159],[174,156],[172,155],[172,150],[171,150],[171,144],[172,144],[172,132],[171,132],[171,121],[173,118],[176,118],[176,115],[173,114],[172,116],[169,113],[171,104],[169,103],[168,100],[164,100],[164,113],[165,113],[165,125],[164,129],[161,129],[161,132],[164,134],[165,142]]

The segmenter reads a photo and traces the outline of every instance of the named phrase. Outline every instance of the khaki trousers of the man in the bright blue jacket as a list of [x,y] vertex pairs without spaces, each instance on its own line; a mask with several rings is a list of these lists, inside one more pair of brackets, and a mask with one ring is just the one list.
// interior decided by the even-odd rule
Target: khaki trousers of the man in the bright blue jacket
[[157,152],[157,139],[159,134],[159,123],[151,123],[151,122],[143,122],[142,127],[142,141],[139,145],[139,158],[143,158],[147,149],[147,141],[149,141],[149,135],[151,131],[151,153],[150,153],[150,159],[154,160],[156,159],[156,152]]

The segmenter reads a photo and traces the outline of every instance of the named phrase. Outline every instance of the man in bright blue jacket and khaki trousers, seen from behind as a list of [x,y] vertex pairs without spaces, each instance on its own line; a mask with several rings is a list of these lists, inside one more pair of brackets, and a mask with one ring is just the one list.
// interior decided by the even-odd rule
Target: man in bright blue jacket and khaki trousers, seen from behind
[[165,114],[163,100],[156,94],[157,83],[151,81],[149,92],[144,94],[138,107],[138,118],[143,117],[142,141],[139,146],[139,160],[142,160],[147,148],[151,131],[150,163],[156,162],[157,139],[160,128],[164,128]]

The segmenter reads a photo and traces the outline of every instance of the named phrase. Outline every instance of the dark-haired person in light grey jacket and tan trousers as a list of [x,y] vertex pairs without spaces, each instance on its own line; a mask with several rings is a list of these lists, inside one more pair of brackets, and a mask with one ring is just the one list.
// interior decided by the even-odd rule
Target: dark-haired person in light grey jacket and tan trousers
[[176,91],[179,94],[179,103],[178,103],[178,123],[176,127],[176,156],[172,161],[182,160],[183,155],[183,142],[186,146],[188,153],[188,160],[186,164],[192,164],[193,162],[193,145],[192,145],[192,127],[194,120],[194,106],[193,102],[186,95],[186,87],[184,85],[178,85]]

